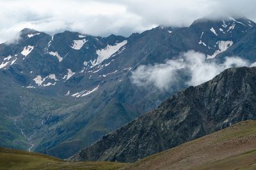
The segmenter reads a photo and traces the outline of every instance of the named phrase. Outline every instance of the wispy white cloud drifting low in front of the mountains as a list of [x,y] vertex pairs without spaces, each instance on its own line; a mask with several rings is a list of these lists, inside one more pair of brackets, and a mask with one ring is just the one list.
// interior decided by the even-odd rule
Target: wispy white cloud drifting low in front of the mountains
[[131,80],[139,87],[172,91],[182,84],[199,85],[211,80],[224,69],[239,66],[250,65],[239,57],[227,57],[225,62],[217,64],[205,60],[204,53],[189,51],[164,64],[139,66],[132,72]]

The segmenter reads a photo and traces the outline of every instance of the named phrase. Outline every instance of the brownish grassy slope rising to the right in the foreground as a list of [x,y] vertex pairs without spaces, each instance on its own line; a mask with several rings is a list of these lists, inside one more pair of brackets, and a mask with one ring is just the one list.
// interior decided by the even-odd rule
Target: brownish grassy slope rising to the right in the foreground
[[256,121],[240,122],[127,169],[256,169]]

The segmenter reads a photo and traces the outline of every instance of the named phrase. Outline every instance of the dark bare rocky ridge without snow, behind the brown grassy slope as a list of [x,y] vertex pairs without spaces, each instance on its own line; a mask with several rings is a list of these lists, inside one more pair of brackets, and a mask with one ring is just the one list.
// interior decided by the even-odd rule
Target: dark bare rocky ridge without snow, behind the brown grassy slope
[[256,118],[256,67],[226,69],[166,99],[70,160],[134,162],[243,120]]

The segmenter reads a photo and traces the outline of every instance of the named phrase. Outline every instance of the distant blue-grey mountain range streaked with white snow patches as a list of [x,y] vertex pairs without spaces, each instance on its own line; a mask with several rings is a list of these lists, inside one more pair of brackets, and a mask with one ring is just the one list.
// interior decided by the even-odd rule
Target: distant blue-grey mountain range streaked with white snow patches
[[254,27],[246,18],[203,18],[189,27],[159,26],[128,38],[23,29],[19,41],[0,45],[0,146],[70,157],[188,86],[138,87],[131,81],[138,66],[189,50],[222,59],[246,39],[252,45],[237,54],[253,55]]

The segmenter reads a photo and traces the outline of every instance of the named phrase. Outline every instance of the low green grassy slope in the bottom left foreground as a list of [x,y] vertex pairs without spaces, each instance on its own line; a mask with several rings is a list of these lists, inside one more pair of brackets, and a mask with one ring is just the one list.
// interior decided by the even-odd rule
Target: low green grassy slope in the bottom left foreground
[[40,153],[0,148],[0,169],[121,169],[117,162],[65,162]]

